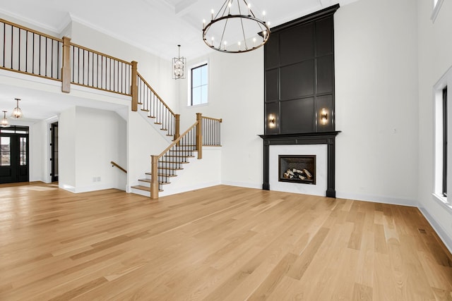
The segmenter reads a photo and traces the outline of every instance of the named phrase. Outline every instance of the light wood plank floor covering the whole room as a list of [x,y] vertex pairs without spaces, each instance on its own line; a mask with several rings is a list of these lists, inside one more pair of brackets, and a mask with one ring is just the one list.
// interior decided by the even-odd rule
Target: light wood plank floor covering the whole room
[[0,188],[0,300],[452,300],[412,207],[232,186]]

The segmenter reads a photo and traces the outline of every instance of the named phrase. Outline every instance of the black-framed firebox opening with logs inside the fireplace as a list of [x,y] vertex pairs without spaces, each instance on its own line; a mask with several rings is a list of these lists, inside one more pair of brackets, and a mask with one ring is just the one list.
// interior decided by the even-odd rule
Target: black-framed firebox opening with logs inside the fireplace
[[316,155],[279,155],[279,181],[316,184]]

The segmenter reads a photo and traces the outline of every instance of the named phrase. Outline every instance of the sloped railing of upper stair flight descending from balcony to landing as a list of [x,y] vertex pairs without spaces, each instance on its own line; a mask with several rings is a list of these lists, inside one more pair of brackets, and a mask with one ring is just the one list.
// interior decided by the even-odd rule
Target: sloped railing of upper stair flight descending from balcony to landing
[[137,104],[141,105],[141,111],[147,112],[149,118],[155,118],[154,123],[160,125],[160,130],[167,131],[167,136],[172,136],[173,140],[177,140],[179,137],[180,115],[169,109],[169,106],[150,87],[140,73],[137,72],[137,76]]

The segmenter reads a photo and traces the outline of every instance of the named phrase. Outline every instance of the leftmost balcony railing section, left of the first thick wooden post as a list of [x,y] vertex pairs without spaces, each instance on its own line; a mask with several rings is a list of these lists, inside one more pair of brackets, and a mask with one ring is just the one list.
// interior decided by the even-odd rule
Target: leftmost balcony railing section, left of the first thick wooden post
[[0,68],[61,81],[63,40],[0,19]]

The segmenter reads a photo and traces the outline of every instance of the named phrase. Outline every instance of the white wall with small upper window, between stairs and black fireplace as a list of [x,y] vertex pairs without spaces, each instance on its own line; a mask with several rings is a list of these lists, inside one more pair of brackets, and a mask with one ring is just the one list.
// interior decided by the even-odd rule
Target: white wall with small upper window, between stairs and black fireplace
[[208,104],[187,107],[188,78],[180,80],[183,128],[194,123],[196,113],[222,118],[222,183],[262,188],[263,48],[245,54],[212,51],[188,66],[202,61],[209,64]]

